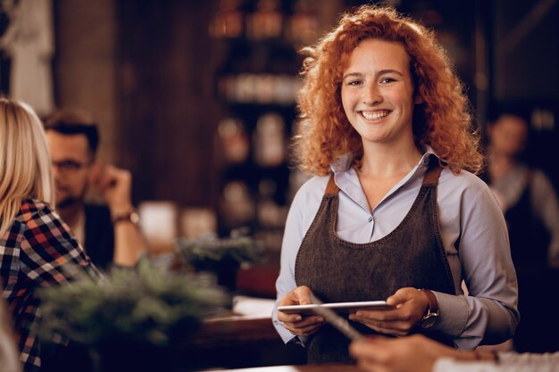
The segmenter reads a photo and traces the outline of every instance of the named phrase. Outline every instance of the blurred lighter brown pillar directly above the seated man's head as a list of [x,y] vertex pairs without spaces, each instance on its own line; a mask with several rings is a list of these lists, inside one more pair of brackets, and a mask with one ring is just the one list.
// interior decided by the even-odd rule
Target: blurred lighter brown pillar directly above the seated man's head
[[86,110],[99,125],[101,162],[116,162],[117,29],[112,0],[54,1],[54,98],[58,108]]

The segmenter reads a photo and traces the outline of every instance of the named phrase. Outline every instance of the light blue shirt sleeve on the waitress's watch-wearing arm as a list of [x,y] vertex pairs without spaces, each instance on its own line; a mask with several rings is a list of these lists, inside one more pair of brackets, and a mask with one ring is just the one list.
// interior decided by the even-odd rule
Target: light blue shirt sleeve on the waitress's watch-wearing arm
[[436,329],[462,349],[505,342],[520,318],[505,219],[487,186],[474,178],[468,183],[461,191],[441,184],[438,202],[443,236],[456,248],[449,262],[460,265],[453,270],[455,282],[463,279],[469,295],[436,293],[441,314]]

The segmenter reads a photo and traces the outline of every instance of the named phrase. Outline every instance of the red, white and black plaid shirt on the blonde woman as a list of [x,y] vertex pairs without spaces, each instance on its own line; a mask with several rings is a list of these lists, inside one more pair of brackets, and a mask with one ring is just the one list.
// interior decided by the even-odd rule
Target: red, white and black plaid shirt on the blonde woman
[[[76,269],[79,268],[79,269]],[[46,203],[24,200],[12,226],[0,237],[0,281],[13,317],[21,362],[27,372],[41,366],[38,287],[102,274],[62,219]],[[61,342],[60,337],[53,341]]]

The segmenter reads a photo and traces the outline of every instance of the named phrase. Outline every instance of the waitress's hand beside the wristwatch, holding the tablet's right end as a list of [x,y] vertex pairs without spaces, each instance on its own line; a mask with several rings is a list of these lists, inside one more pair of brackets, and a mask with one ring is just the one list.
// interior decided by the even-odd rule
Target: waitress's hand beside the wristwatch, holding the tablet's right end
[[429,306],[427,294],[413,287],[400,288],[388,297],[395,310],[358,310],[350,319],[385,335],[407,335],[423,318]]

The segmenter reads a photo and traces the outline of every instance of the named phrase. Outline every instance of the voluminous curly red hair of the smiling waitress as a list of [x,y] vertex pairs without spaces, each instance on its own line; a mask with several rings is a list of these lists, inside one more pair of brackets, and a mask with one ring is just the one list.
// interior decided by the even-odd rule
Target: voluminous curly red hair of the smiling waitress
[[483,165],[480,136],[472,129],[470,103],[434,32],[393,8],[363,5],[346,13],[338,27],[313,46],[303,62],[304,86],[298,95],[300,121],[294,137],[299,166],[314,175],[326,175],[330,164],[354,154],[354,166],[363,157],[361,137],[346,118],[341,81],[349,54],[367,38],[404,45],[410,56],[415,95],[413,135],[418,147],[430,145],[455,173],[478,172]]

